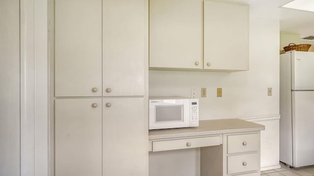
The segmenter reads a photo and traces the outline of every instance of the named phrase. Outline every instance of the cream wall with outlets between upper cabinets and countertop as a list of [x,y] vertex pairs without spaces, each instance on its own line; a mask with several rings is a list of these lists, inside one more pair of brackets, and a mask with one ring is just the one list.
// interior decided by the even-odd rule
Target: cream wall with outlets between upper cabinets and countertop
[[[262,13],[263,10],[250,8],[249,71],[150,71],[149,96],[190,97],[191,88],[197,88],[200,120],[279,116],[279,20],[273,19],[271,15],[268,18]],[[200,97],[201,87],[207,88],[207,98]],[[222,88],[222,98],[216,97],[218,87]],[[272,87],[272,96],[267,96],[267,87]],[[279,130],[279,124],[276,123],[270,126]],[[276,135],[279,137],[279,134]],[[266,146],[262,150],[278,154],[279,145],[270,148]],[[277,163],[277,167],[280,167],[279,155],[278,158],[270,159],[270,162],[262,160],[261,165],[267,167]]]

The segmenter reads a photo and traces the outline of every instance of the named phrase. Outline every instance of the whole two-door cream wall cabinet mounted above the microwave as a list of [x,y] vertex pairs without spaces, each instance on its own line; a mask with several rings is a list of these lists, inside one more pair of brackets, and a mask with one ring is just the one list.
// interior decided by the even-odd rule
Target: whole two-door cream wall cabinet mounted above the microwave
[[248,5],[150,0],[149,19],[151,70],[248,70]]

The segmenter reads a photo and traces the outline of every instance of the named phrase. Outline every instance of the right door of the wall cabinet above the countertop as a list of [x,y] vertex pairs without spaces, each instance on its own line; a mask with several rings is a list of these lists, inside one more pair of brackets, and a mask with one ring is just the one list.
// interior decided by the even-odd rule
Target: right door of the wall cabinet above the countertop
[[249,7],[204,1],[204,69],[248,70]]

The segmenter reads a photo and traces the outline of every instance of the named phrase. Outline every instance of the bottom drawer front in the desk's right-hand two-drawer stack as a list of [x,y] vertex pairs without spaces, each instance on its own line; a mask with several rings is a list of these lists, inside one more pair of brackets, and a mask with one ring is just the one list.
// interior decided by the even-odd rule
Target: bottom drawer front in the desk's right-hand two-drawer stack
[[260,155],[251,153],[228,156],[227,167],[228,174],[260,170]]

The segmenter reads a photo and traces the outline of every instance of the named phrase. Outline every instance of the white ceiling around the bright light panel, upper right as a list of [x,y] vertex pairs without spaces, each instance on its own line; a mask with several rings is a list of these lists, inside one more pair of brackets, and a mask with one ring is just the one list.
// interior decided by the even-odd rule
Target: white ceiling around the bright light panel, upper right
[[259,14],[280,20],[280,30],[299,33],[300,38],[314,35],[314,12],[282,8],[291,0],[230,0],[250,4]]

